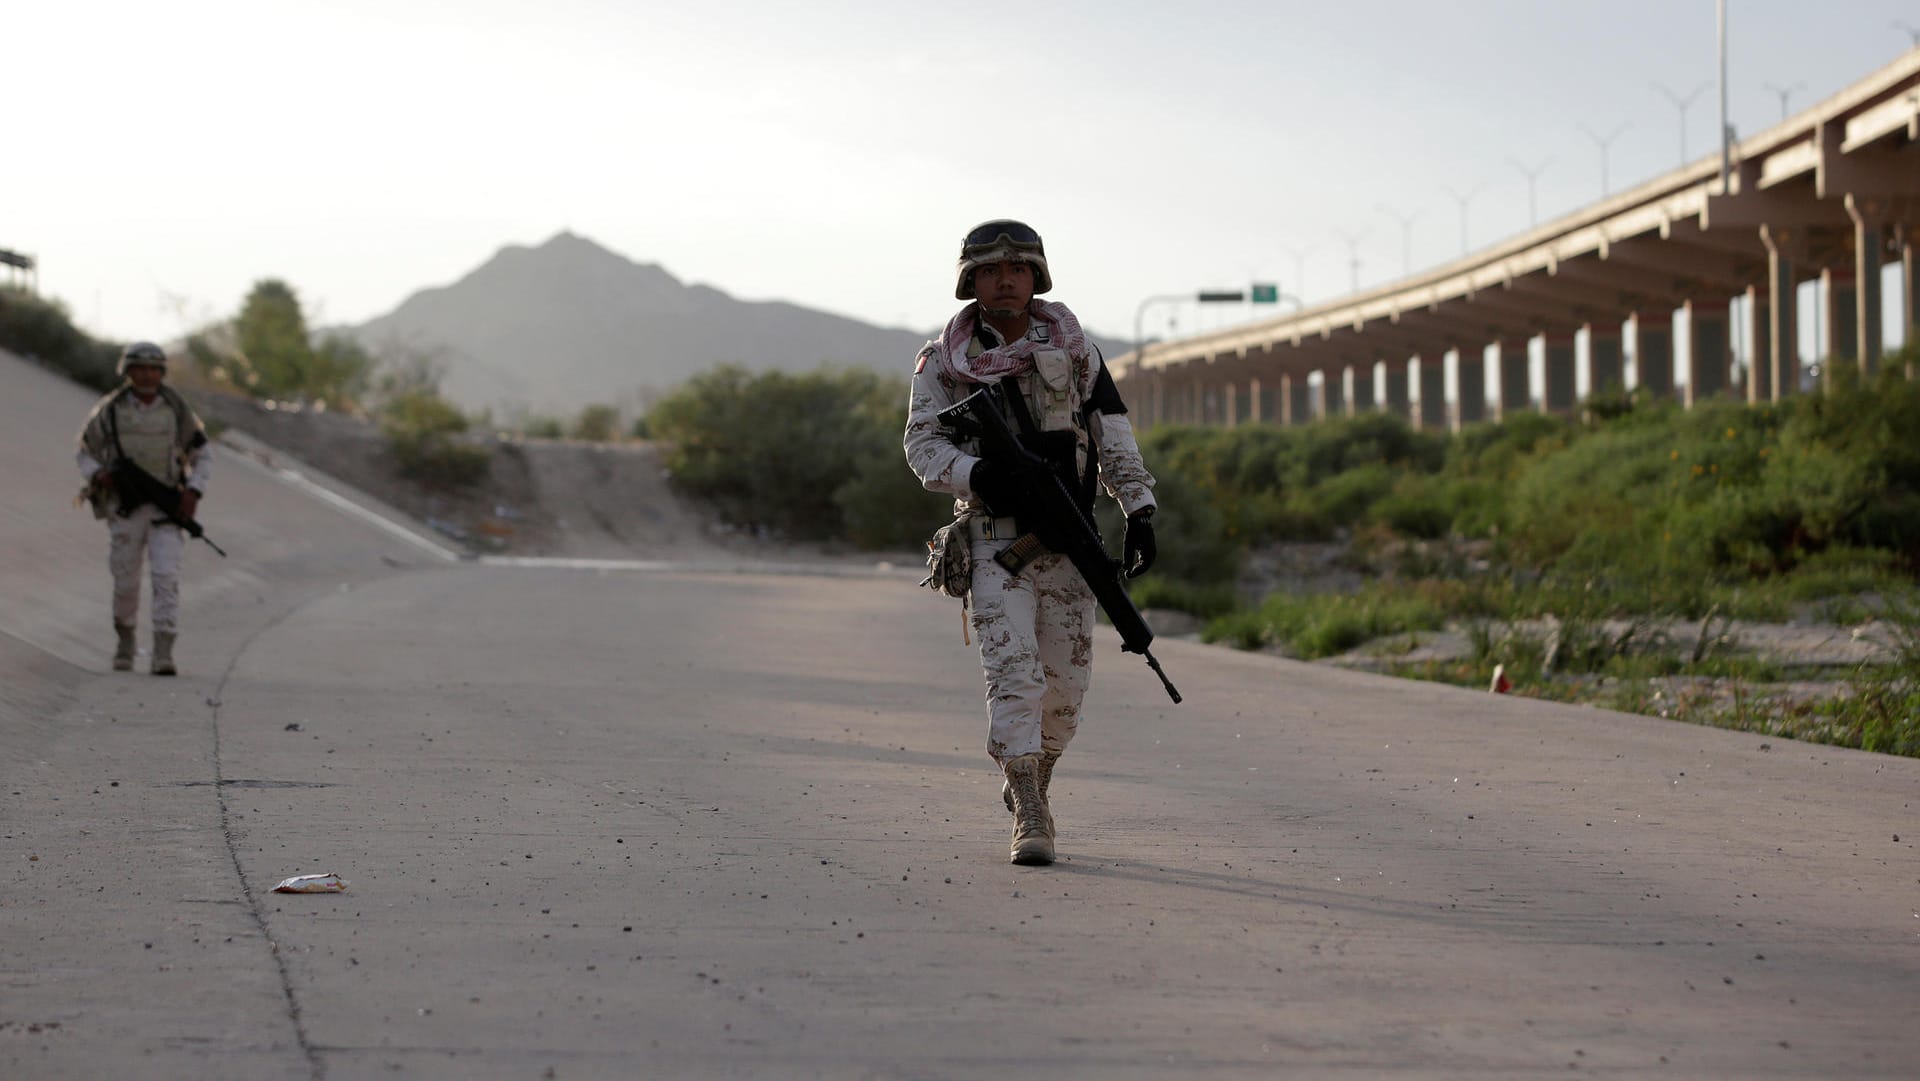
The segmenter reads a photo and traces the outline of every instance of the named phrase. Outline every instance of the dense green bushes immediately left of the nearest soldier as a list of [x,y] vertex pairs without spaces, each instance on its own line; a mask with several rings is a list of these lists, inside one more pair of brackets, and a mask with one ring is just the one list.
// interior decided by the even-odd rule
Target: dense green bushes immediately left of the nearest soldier
[[695,376],[647,413],[666,467],[732,524],[797,540],[914,547],[948,499],[906,468],[906,384],[852,369]]

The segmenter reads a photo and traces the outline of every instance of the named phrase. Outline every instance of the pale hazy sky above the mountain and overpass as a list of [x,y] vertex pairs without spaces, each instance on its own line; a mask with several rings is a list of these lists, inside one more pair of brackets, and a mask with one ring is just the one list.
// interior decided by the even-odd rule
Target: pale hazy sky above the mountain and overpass
[[[1914,48],[1914,0],[1728,0],[1738,131]],[[1021,217],[1056,300],[1308,303],[1715,152],[1713,0],[10,0],[0,248],[113,338],[288,280],[359,323],[561,228],[685,282],[931,328]],[[1582,131],[1582,125],[1588,131]],[[1590,134],[1592,132],[1592,134]],[[1544,163],[1544,169],[1542,169]],[[1386,207],[1386,209],[1382,209]],[[1411,225],[1404,225],[1415,215]],[[1298,259],[1296,259],[1298,257]],[[1298,275],[1296,275],[1298,267]],[[1150,336],[1277,309],[1152,305]],[[1169,319],[1177,321],[1169,328]]]

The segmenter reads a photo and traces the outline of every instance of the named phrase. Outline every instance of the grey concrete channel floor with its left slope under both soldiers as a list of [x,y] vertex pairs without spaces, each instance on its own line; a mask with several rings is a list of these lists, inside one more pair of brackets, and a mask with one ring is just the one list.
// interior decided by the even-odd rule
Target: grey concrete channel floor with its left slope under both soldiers
[[223,447],[109,672],[88,399],[0,359],[0,1077],[1920,1075],[1920,760],[1106,636],[1014,868],[910,570],[453,563]]

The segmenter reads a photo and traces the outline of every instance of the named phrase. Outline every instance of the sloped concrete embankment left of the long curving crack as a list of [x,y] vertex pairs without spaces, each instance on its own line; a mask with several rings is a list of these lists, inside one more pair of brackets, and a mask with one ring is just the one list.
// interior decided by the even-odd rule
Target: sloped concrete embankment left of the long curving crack
[[[73,505],[92,401],[0,353],[0,1075],[307,1077],[217,799],[217,687],[315,597],[444,561],[217,447],[230,557],[188,545],[184,676],[144,674],[146,613],[142,672],[111,672],[106,528]],[[261,1052],[207,1069],[232,1046]]]

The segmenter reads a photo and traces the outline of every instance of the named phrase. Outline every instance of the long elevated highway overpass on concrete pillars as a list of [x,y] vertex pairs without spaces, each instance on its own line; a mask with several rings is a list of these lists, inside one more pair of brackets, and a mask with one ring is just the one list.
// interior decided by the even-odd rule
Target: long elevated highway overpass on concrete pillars
[[[1801,286],[1818,313],[1812,359],[1878,371],[1885,313],[1920,323],[1916,253],[1920,48],[1738,140],[1724,175],[1716,154],[1428,273],[1137,348],[1114,372],[1148,424],[1294,424],[1384,407],[1457,428],[1521,409],[1569,413],[1578,372],[1590,390],[1647,388],[1688,405],[1734,392],[1776,399],[1805,376]],[[1884,288],[1891,261],[1897,290]],[[1745,371],[1736,342],[1751,344]],[[1544,359],[1542,386],[1530,353]]]

